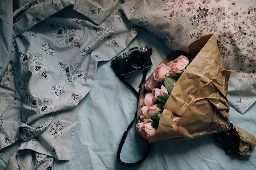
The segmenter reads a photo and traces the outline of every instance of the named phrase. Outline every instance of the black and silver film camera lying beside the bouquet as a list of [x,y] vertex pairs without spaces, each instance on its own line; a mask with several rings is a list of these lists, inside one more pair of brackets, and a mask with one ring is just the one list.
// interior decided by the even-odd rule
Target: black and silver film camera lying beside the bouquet
[[151,67],[151,54],[152,48],[147,48],[147,46],[141,48],[134,47],[129,49],[128,52],[115,56],[115,60],[112,60],[112,62],[115,65],[117,72],[120,75],[124,75],[126,73]]

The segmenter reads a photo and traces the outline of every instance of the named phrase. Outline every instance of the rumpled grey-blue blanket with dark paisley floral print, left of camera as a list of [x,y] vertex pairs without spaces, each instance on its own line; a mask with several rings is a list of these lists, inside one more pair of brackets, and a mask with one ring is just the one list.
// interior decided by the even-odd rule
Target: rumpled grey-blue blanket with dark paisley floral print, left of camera
[[137,35],[116,0],[0,1],[0,158],[7,169],[69,160],[76,105],[98,61]]

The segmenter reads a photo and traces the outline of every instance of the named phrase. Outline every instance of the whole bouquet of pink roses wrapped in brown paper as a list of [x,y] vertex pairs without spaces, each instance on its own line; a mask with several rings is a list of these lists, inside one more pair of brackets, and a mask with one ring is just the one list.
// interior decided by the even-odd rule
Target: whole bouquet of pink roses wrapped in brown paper
[[142,84],[136,125],[142,140],[218,133],[228,139],[227,153],[251,155],[255,137],[229,122],[229,75],[213,34],[171,53]]

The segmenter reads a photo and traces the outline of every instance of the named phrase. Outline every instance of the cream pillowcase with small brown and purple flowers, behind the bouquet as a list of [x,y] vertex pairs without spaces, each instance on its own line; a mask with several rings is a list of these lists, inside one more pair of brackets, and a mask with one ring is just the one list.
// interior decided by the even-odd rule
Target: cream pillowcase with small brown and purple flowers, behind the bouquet
[[244,113],[256,101],[256,0],[130,0],[127,18],[177,50],[213,33],[229,81],[230,104]]

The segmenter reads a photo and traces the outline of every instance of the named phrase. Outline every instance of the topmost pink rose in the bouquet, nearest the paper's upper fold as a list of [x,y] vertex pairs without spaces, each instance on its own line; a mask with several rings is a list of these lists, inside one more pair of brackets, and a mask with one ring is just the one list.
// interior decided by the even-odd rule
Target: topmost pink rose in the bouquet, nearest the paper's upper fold
[[166,65],[168,67],[169,74],[173,77],[177,77],[176,73],[181,73],[184,70],[184,68],[186,68],[188,63],[188,58],[183,55],[180,55],[178,58],[168,62]]

